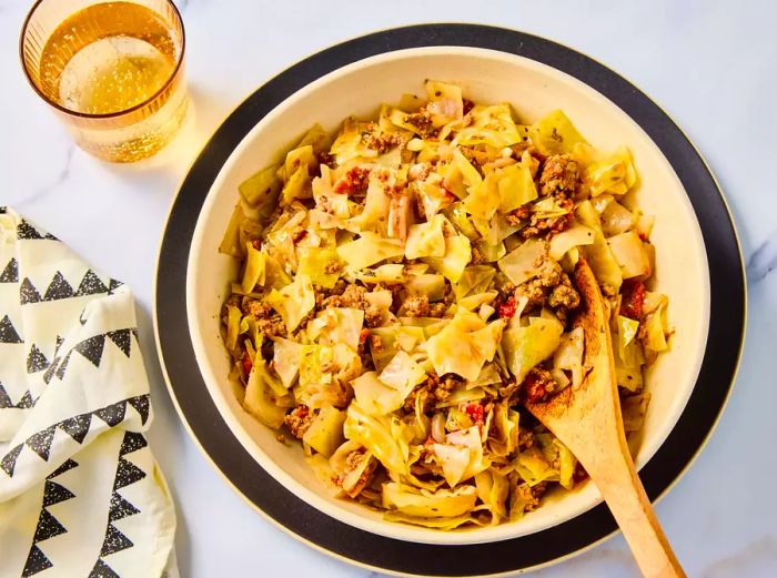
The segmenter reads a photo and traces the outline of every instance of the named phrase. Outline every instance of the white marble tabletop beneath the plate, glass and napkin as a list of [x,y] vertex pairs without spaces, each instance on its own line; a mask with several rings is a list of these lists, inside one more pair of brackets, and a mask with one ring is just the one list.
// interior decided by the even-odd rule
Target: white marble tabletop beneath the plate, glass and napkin
[[[777,3],[415,0],[389,8],[339,0],[181,0],[192,113],[170,148],[129,166],[104,164],[75,149],[27,85],[17,38],[29,3],[0,0],[0,204],[16,207],[134,290],[157,408],[151,443],[179,508],[182,576],[370,575],[279,531],[233,494],[194,447],[160,374],[152,282],[176,185],[233,107],[314,51],[375,29],[424,21],[501,24],[579,49],[665,107],[706,156],[727,194],[747,261],[747,344],[715,434],[656,509],[689,576],[777,576],[771,446],[777,388],[770,371],[777,341],[777,192],[770,174],[777,162]],[[536,576],[637,571],[616,536]]]

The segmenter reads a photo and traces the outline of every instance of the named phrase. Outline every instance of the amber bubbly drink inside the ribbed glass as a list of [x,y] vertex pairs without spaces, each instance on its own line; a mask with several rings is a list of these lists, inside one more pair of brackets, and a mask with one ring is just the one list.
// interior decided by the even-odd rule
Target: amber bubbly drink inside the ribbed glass
[[132,2],[93,4],[68,17],[47,40],[40,88],[68,111],[113,115],[102,128],[77,124],[79,144],[111,161],[134,161],[164,146],[183,121],[182,82],[169,85],[181,50],[153,10]]

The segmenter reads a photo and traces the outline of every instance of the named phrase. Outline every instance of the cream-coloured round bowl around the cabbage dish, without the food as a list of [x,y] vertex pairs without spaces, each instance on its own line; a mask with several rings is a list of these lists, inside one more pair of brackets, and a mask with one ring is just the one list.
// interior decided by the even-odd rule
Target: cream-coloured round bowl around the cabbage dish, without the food
[[475,102],[509,102],[523,121],[562,109],[596,148],[625,144],[640,176],[637,204],[656,215],[656,288],[669,296],[676,332],[672,349],[646,378],[652,400],[636,455],[647,463],[667,438],[690,392],[704,355],[709,321],[709,276],[704,241],[686,193],[672,166],[645,132],[605,97],[545,64],[471,48],[421,48],[369,58],[327,74],[273,109],[230,155],[200,213],[188,265],[186,308],[196,361],[219,412],[246,452],[280,484],[321,511],[357,528],[402,540],[473,544],[503,540],[561,524],[597,505],[596,487],[556,491],[539,509],[514,524],[438,531],[384,521],[380,513],[332,498],[303,459],[300,447],[248,415],[228,379],[230,364],[219,331],[219,311],[238,265],[216,251],[238,199],[238,185],[281,159],[313,123],[335,130],[351,115],[375,114],[402,93],[423,94],[424,79],[460,84]]

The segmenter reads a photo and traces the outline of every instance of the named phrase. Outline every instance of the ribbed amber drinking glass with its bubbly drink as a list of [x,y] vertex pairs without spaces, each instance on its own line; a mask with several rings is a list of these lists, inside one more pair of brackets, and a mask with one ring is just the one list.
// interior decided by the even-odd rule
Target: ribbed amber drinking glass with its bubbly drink
[[38,0],[19,41],[24,73],[84,151],[154,154],[186,112],[185,36],[170,0]]

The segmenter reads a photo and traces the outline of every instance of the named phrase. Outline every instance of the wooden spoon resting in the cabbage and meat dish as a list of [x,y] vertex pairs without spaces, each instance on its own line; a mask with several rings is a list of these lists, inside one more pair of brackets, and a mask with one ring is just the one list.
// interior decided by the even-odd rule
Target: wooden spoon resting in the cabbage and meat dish
[[685,576],[639,481],[620,416],[608,331],[608,305],[588,263],[581,257],[573,274],[581,306],[573,324],[585,335],[584,367],[577,387],[566,387],[547,402],[525,402],[577,457],[604,496],[646,577]]

